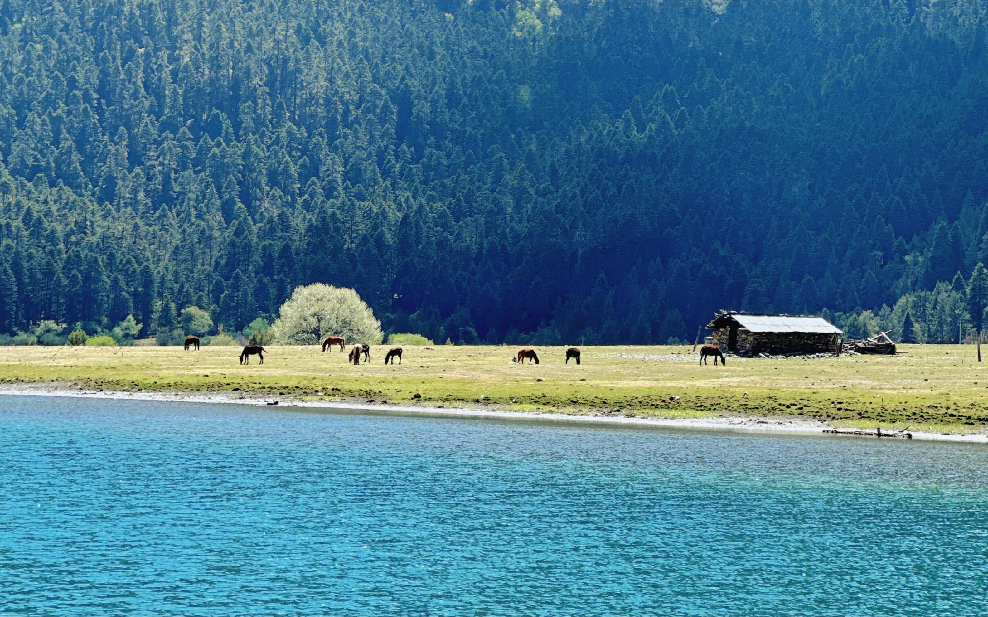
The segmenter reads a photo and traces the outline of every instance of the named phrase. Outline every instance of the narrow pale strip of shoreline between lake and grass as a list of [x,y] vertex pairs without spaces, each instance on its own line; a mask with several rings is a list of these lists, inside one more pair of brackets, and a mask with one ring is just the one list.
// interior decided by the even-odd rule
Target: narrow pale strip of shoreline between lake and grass
[[[247,404],[254,406],[269,405],[275,398],[260,397],[250,393],[149,393],[149,392],[118,392],[93,391],[72,388],[67,385],[23,384],[20,386],[7,385],[0,387],[0,395],[22,397],[74,397],[74,398],[115,398],[122,400],[156,400],[166,402],[205,402],[224,404]],[[360,410],[378,413],[448,415],[453,417],[501,418],[531,421],[574,422],[584,424],[610,424],[641,428],[680,428],[696,430],[735,431],[744,433],[789,434],[789,435],[823,435],[824,429],[834,428],[834,425],[813,420],[773,419],[760,417],[709,417],[709,418],[643,418],[627,416],[577,415],[559,412],[510,411],[506,409],[476,409],[469,407],[430,407],[392,404],[368,404],[362,402],[328,402],[315,400],[280,401],[279,407],[295,407],[307,409]],[[960,441],[969,443],[988,444],[988,435],[984,434],[951,434],[911,431],[913,439],[931,441]],[[855,436],[859,439],[868,437]],[[872,437],[873,438],[873,437]]]

